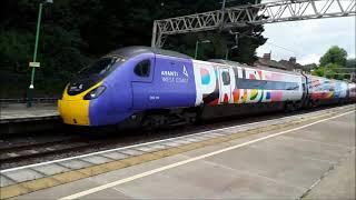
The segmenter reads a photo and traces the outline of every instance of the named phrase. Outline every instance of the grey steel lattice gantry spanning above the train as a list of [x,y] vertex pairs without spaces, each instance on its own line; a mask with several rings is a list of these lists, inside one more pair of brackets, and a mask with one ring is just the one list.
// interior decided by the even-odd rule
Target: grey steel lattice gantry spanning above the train
[[[222,2],[227,2],[226,0]],[[340,3],[347,2],[347,3]],[[298,7],[298,9],[294,9]],[[168,36],[250,27],[312,19],[356,16],[356,1],[349,0],[276,0],[257,4],[222,7],[207,11],[154,21],[151,47],[161,48]],[[338,9],[334,9],[338,8]],[[259,16],[264,16],[260,18]]]

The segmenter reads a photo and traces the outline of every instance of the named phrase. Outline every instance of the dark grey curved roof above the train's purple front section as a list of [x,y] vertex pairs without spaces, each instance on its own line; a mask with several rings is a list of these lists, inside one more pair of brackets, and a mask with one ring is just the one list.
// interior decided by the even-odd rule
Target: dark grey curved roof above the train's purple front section
[[121,48],[108,53],[107,56],[132,58],[140,53],[155,53],[155,54],[162,54],[162,56],[169,56],[169,57],[176,57],[176,58],[191,59],[191,57],[184,53],[176,52],[176,51],[151,48],[151,47],[144,47],[144,46],[132,46],[132,47]]

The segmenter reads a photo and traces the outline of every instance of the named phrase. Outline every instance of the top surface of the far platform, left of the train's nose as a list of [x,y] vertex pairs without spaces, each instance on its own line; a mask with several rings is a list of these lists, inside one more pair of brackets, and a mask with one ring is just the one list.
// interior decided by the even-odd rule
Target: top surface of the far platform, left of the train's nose
[[0,108],[0,123],[18,122],[29,120],[42,120],[59,117],[57,106],[49,104],[33,104],[27,108],[24,103],[1,106]]

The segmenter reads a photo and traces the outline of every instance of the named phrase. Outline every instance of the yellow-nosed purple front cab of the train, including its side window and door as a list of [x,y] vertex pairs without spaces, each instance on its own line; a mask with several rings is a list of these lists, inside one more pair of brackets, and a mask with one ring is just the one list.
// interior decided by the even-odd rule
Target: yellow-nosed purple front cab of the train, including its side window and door
[[[122,59],[120,56],[108,57],[115,58],[111,66],[107,67],[109,72],[101,69],[95,74],[87,74],[86,78],[79,76],[66,87],[62,98],[58,101],[65,123],[96,127],[117,124],[129,121],[126,119],[146,109],[150,94],[154,93],[155,53],[134,53],[122,56]],[[117,61],[118,59],[120,60]],[[86,83],[93,82],[88,79],[98,76],[100,81],[96,80],[97,83],[87,89]],[[100,87],[103,88],[100,97],[90,98],[90,92]],[[78,91],[71,93],[71,90]]]

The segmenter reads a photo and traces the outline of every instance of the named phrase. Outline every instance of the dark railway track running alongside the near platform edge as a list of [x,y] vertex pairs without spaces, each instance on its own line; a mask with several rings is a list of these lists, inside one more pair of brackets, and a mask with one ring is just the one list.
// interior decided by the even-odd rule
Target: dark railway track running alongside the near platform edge
[[[332,108],[324,107],[323,109]],[[300,113],[309,113],[322,108],[303,110],[293,113],[268,113],[258,117],[249,118],[234,118],[234,119],[219,119],[216,121],[207,121],[200,126],[185,126],[168,130],[154,130],[154,131],[127,131],[127,132],[106,132],[97,136],[68,136],[57,139],[48,138],[47,140],[38,138],[38,142],[31,143],[11,143],[7,147],[0,148],[0,169],[8,169],[20,167],[37,162],[49,161],[53,159],[68,158],[83,153],[107,150],[111,148],[126,147],[142,142],[155,140],[168,139],[179,136],[188,136],[200,131],[219,129],[229,126],[244,124],[249,122],[258,122],[269,119],[283,118],[286,116],[295,116]],[[42,134],[43,136],[43,134]],[[55,137],[56,138],[56,137]],[[2,141],[3,142],[3,141]]]

